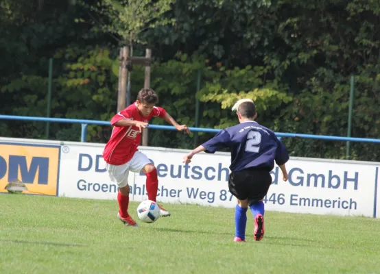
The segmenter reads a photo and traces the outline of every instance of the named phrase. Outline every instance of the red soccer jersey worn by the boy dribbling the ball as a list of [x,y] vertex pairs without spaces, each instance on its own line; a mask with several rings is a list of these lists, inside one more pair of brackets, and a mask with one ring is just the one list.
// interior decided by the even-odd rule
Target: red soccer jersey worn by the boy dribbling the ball
[[[122,119],[141,121],[147,123],[153,117],[163,118],[166,110],[159,107],[154,107],[149,116],[141,116],[137,110],[136,103],[128,106],[128,108],[121,110],[118,114],[112,117],[111,125],[115,125],[117,121]],[[134,153],[137,151],[141,142],[141,133],[139,127],[117,127],[114,126],[110,140],[108,140],[106,147],[104,147],[103,158],[108,164],[119,166],[129,162]]]

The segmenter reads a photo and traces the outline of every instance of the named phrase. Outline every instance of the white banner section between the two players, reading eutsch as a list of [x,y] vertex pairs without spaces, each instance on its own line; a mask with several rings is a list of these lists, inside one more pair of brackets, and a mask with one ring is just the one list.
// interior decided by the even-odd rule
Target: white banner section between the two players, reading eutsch
[[[230,199],[228,175],[229,155],[195,155],[191,164],[183,164],[187,151],[155,151],[141,149],[157,169],[158,197],[167,203],[197,203],[204,206],[233,207],[235,199]],[[132,186],[134,201],[141,201],[146,193],[145,175],[136,174]]]

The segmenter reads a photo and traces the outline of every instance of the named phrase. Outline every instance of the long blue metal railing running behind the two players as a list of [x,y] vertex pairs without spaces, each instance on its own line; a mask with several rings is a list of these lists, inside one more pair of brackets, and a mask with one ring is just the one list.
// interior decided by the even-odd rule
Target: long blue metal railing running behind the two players
[[[54,123],[74,123],[82,125],[81,142],[86,142],[87,126],[88,125],[110,125],[109,121],[96,121],[96,120],[82,120],[82,119],[65,119],[65,118],[47,118],[47,117],[33,117],[33,116],[14,116],[14,115],[0,115],[0,120],[17,120],[17,121],[35,121],[35,122],[54,122]],[[150,129],[163,129],[163,130],[176,130],[175,127],[170,125],[149,125]],[[221,129],[189,127],[192,132],[209,132],[217,133]],[[380,143],[380,139],[372,138],[353,138],[341,136],[326,136],[326,135],[313,135],[313,134],[296,134],[296,133],[282,133],[276,132],[278,138],[282,137],[298,137],[318,140],[335,140],[346,142],[375,142]]]

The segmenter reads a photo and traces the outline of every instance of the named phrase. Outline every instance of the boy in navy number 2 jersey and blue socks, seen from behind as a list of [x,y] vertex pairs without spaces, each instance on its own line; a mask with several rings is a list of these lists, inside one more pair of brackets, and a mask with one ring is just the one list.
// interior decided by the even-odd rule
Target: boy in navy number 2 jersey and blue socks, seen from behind
[[287,181],[285,163],[289,160],[289,155],[272,130],[254,121],[257,113],[252,100],[237,101],[233,111],[237,112],[239,125],[223,129],[214,138],[186,155],[183,162],[190,163],[193,155],[201,151],[214,153],[219,149],[229,148],[231,173],[228,188],[237,198],[234,241],[246,241],[248,206],[254,218],[254,240],[261,240],[265,231],[263,198],[272,184],[270,171],[276,162],[283,172],[283,180]]

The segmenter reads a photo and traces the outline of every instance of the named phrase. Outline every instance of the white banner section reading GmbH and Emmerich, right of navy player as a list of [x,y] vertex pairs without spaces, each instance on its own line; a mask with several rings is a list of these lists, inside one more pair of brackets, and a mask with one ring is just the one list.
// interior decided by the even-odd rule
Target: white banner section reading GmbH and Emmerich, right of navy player
[[268,210],[373,216],[377,166],[328,160],[291,159],[288,182],[278,167],[266,200]]

